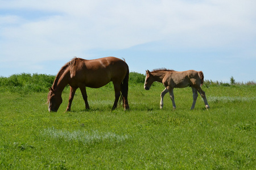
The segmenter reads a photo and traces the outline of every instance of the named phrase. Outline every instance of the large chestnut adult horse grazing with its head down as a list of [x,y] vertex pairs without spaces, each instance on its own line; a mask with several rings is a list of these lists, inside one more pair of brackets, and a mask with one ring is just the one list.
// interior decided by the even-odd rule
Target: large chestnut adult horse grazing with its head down
[[123,107],[129,109],[128,104],[128,80],[129,67],[125,61],[115,57],[86,60],[73,58],[66,63],[56,75],[56,78],[49,88],[48,103],[49,112],[57,112],[62,103],[61,93],[69,84],[70,95],[66,111],[71,111],[71,104],[77,88],[80,88],[85,101],[85,108],[89,109],[86,88],[99,88],[109,82],[113,82],[115,101],[112,109],[117,108],[119,96],[123,101]]

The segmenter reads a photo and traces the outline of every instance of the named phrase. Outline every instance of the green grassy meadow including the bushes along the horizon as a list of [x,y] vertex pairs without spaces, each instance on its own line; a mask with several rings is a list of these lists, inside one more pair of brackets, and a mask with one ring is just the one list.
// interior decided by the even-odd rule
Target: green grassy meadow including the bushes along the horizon
[[205,81],[210,109],[191,88],[174,90],[177,108],[164,87],[143,89],[144,75],[130,74],[130,110],[114,102],[113,85],[87,88],[65,112],[69,88],[56,113],[47,94],[55,76],[0,78],[0,169],[256,169],[256,86]]

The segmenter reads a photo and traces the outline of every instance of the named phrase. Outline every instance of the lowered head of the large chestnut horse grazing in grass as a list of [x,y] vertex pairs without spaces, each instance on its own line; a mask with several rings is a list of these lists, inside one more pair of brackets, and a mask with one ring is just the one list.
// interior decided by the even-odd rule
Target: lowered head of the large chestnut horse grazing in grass
[[62,103],[61,94],[58,95],[52,88],[49,88],[48,103],[48,111],[57,112],[60,107],[60,104]]

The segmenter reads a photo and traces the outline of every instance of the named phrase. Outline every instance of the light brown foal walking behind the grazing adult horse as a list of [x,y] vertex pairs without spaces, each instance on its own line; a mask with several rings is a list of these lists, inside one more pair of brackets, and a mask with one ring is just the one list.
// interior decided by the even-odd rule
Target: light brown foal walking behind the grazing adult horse
[[176,105],[174,102],[174,88],[184,88],[191,86],[193,91],[193,104],[191,109],[195,108],[197,91],[203,97],[205,108],[210,108],[207,103],[207,98],[205,92],[201,89],[204,83],[204,74],[202,71],[187,70],[187,71],[174,71],[167,69],[156,69],[152,72],[146,71],[146,80],[144,84],[144,89],[149,90],[153,82],[160,82],[164,84],[164,91],[161,93],[160,109],[163,108],[163,97],[169,92],[172,107],[175,109]]

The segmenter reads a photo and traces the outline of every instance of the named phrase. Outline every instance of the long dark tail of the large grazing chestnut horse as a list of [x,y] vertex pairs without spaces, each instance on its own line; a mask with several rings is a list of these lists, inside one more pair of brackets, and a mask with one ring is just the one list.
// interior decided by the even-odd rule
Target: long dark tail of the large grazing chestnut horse
[[125,78],[123,79],[123,82],[121,83],[121,96],[119,98],[119,104],[121,101],[123,101],[123,107],[125,109],[129,109],[128,104],[128,82],[129,82],[129,66],[127,65],[127,72],[125,75]]

